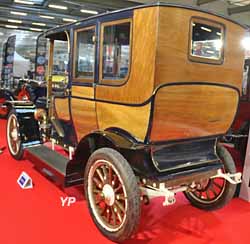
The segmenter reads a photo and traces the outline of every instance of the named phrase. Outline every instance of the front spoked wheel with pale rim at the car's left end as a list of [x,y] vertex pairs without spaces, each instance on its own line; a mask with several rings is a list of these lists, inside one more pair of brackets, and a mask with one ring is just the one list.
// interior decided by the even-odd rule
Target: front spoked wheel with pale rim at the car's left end
[[10,154],[17,160],[23,158],[24,150],[21,142],[19,123],[15,110],[11,110],[7,119],[6,139]]

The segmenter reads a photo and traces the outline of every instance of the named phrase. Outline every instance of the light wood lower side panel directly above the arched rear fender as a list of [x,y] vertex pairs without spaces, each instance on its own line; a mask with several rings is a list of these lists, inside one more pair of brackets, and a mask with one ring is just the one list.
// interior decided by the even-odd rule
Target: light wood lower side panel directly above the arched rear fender
[[145,139],[150,115],[150,104],[143,107],[130,107],[97,102],[98,124],[101,130],[121,128],[138,140]]

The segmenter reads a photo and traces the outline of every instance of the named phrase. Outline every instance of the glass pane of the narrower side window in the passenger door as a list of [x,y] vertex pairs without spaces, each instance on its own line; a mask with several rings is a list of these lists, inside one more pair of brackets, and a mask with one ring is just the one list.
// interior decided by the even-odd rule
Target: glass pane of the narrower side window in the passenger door
[[93,78],[95,66],[95,29],[77,33],[76,78]]

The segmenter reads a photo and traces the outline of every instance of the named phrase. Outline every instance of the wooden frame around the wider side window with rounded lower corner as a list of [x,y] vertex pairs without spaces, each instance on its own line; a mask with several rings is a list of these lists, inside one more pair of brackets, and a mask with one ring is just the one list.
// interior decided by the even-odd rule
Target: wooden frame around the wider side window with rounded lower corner
[[[104,28],[107,26],[114,26],[119,24],[129,23],[130,24],[130,33],[129,33],[129,65],[128,65],[128,73],[122,79],[105,79],[103,78],[103,39],[104,39]],[[105,86],[122,86],[124,85],[129,78],[131,71],[131,62],[132,62],[132,34],[133,34],[133,24],[132,18],[114,20],[101,23],[101,31],[100,31],[100,55],[99,55],[99,85]]]

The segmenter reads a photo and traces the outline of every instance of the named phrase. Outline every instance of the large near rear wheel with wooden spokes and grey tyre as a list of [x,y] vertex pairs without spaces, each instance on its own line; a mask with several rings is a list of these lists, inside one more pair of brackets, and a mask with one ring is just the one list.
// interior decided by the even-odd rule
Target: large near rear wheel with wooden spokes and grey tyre
[[127,160],[114,149],[98,149],[88,160],[84,179],[88,208],[98,229],[114,242],[129,239],[140,222],[141,202],[139,186]]

